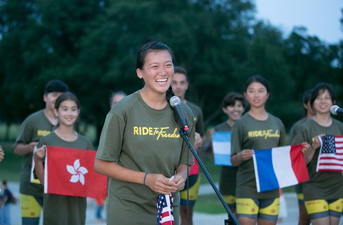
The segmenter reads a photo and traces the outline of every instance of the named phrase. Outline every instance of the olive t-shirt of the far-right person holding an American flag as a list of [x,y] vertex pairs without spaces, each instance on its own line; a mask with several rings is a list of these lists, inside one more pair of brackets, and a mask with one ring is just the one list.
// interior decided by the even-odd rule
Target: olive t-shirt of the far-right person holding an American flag
[[[319,134],[342,135],[343,123],[332,119],[331,126],[324,127],[313,119],[309,119],[303,123],[302,129],[294,139],[294,143],[312,143],[312,138]],[[319,151],[320,148],[316,150],[314,158],[307,164],[309,181],[303,183],[304,200],[343,198],[343,176],[341,172],[316,172]]]

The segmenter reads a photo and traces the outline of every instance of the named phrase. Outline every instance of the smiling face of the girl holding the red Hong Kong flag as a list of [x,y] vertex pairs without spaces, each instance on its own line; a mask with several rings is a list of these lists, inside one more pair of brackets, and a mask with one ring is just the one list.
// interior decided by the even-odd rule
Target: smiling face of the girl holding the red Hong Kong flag
[[56,117],[58,117],[60,126],[73,126],[75,121],[78,119],[80,109],[73,100],[68,99],[61,102],[58,109],[54,109],[54,113]]

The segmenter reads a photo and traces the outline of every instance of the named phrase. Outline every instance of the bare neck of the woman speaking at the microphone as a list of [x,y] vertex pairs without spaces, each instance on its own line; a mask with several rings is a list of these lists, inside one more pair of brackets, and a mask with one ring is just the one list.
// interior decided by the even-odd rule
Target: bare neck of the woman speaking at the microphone
[[152,93],[145,87],[139,90],[139,93],[143,101],[151,108],[159,110],[165,108],[168,104],[165,93]]

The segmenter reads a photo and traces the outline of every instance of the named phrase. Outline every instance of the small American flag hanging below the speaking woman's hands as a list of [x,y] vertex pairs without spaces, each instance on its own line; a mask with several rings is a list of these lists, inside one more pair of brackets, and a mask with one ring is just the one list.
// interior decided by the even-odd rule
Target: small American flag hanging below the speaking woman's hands
[[157,225],[174,225],[173,194],[157,197]]

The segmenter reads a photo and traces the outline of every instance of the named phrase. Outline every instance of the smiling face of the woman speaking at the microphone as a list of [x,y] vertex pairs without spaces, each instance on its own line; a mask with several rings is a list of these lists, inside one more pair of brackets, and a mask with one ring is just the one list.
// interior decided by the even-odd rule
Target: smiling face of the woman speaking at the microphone
[[137,69],[137,76],[143,78],[144,88],[153,93],[165,93],[174,75],[174,64],[167,50],[149,51],[142,69]]

